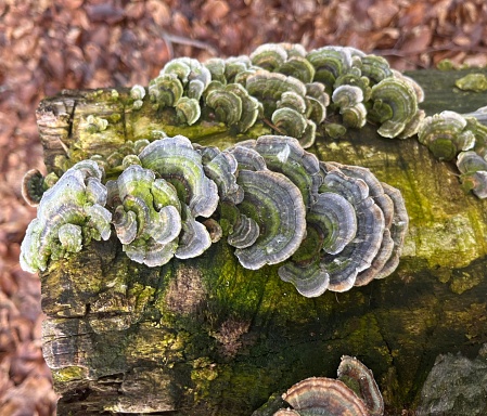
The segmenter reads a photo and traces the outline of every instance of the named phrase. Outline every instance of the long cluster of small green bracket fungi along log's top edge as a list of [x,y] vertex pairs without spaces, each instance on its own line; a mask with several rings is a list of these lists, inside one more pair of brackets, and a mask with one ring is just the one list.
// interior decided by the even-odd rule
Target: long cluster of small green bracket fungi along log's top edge
[[[303,147],[324,135],[328,112],[341,118],[339,133],[380,125],[386,138],[408,138],[424,113],[423,94],[412,79],[390,69],[387,61],[354,48],[323,47],[307,52],[300,44],[267,43],[251,55],[169,61],[145,90],[130,91],[132,108],[144,103],[174,107],[180,123],[216,118],[236,133],[267,120],[277,134],[299,140]],[[328,120],[330,123],[330,120]]]

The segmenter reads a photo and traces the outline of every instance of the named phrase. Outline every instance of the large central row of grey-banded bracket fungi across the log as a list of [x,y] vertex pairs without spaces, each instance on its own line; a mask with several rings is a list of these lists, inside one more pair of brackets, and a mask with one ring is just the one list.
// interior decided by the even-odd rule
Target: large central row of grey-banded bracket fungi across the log
[[403,202],[368,169],[321,162],[297,139],[279,135],[225,151],[182,135],[127,150],[140,152],[119,161],[118,178],[103,182],[93,157],[43,194],[22,245],[25,270],[107,239],[112,225],[126,255],[149,266],[197,257],[225,236],[244,268],[279,263],[281,278],[307,297],[397,266]]

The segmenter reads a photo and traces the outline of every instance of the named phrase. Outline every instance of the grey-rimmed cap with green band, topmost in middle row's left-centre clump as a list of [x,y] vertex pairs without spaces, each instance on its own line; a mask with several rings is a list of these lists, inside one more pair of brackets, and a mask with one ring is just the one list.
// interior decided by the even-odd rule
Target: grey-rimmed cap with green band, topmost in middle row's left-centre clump
[[193,217],[209,217],[218,204],[218,190],[205,176],[202,157],[182,135],[157,140],[139,155],[142,166],[157,172],[177,190]]

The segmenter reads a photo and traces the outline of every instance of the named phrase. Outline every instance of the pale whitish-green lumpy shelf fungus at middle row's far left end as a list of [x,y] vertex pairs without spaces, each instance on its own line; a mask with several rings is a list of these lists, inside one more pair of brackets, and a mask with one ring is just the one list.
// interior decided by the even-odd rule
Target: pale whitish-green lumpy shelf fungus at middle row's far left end
[[43,271],[50,259],[77,252],[91,239],[108,239],[112,213],[104,208],[107,191],[102,178],[94,161],[84,160],[43,193],[22,242],[24,270]]

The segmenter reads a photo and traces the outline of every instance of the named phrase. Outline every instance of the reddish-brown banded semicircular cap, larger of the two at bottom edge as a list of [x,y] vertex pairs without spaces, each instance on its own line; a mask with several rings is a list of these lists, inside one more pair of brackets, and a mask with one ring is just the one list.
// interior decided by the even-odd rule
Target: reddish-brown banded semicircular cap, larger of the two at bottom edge
[[[366,404],[344,382],[326,377],[310,377],[297,382],[283,400],[300,414],[368,416]],[[305,413],[306,412],[306,413]]]

